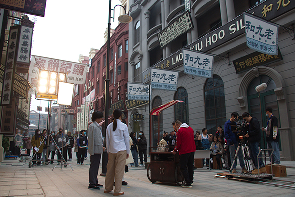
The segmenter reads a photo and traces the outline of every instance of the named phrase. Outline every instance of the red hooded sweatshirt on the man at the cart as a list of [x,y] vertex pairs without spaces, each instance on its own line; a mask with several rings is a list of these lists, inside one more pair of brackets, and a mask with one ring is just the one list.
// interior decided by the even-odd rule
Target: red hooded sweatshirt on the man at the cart
[[177,150],[180,155],[195,152],[196,150],[194,130],[186,123],[182,123],[176,132],[174,151]]

